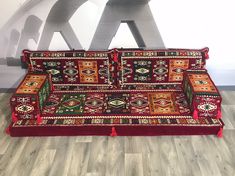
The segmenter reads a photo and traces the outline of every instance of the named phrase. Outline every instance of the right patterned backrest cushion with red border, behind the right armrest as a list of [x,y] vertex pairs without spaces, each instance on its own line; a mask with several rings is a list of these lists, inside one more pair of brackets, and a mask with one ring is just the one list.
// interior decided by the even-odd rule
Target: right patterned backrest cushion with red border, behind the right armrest
[[154,89],[163,83],[181,83],[185,70],[204,68],[207,52],[207,48],[120,50],[119,86],[123,89]]

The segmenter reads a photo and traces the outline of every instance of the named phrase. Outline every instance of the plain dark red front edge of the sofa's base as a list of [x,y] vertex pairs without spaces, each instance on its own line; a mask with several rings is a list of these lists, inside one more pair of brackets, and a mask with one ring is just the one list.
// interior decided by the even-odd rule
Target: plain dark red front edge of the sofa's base
[[[222,122],[222,121],[221,121]],[[118,136],[217,135],[222,126],[115,126]],[[112,126],[11,127],[11,136],[110,136]]]

